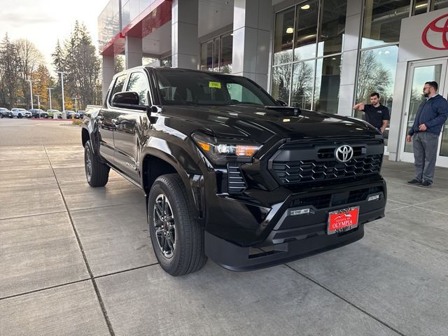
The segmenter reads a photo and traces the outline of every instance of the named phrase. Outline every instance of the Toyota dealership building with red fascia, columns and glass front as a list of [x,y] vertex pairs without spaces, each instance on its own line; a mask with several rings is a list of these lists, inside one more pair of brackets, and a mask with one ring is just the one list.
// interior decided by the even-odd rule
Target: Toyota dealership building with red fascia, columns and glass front
[[[362,118],[391,110],[389,160],[413,162],[405,135],[423,96],[448,96],[448,0],[111,0],[98,18],[103,95],[125,67],[173,66],[255,80],[291,106]],[[437,166],[448,167],[448,122]]]

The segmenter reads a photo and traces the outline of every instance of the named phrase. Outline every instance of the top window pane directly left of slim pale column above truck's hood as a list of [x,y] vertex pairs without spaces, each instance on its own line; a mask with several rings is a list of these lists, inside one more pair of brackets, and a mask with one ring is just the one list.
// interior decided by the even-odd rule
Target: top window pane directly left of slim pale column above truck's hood
[[342,52],[346,10],[346,1],[323,0],[321,30],[318,35],[318,56]]

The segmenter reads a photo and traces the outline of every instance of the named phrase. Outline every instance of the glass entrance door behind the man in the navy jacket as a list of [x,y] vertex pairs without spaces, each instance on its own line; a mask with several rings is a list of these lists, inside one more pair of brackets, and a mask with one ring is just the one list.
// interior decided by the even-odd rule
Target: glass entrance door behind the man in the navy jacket
[[[447,98],[447,63],[448,59],[436,59],[433,61],[412,62],[409,67],[406,85],[406,105],[403,113],[402,127],[402,150],[400,158],[402,161],[414,162],[412,142],[405,141],[407,132],[414,124],[416,113],[423,97],[422,90],[426,82],[435,80],[439,84],[438,93]],[[448,125],[445,123],[444,130],[439,137],[437,148],[437,166],[448,167]]]

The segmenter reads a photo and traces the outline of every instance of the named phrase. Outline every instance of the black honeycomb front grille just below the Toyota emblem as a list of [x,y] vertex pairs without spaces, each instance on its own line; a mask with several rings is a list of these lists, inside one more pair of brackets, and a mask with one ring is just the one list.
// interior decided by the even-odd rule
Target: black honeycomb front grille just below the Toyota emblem
[[381,168],[381,160],[382,155],[378,154],[353,158],[345,163],[336,160],[274,161],[272,172],[281,185],[288,185],[377,174]]

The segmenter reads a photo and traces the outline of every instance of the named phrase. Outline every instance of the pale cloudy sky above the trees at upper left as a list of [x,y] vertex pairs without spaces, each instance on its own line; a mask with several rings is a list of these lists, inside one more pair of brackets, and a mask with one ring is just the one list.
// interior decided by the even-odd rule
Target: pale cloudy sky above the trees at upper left
[[0,40],[27,38],[50,66],[57,39],[69,37],[75,21],[84,22],[98,47],[98,16],[109,0],[0,0]]

